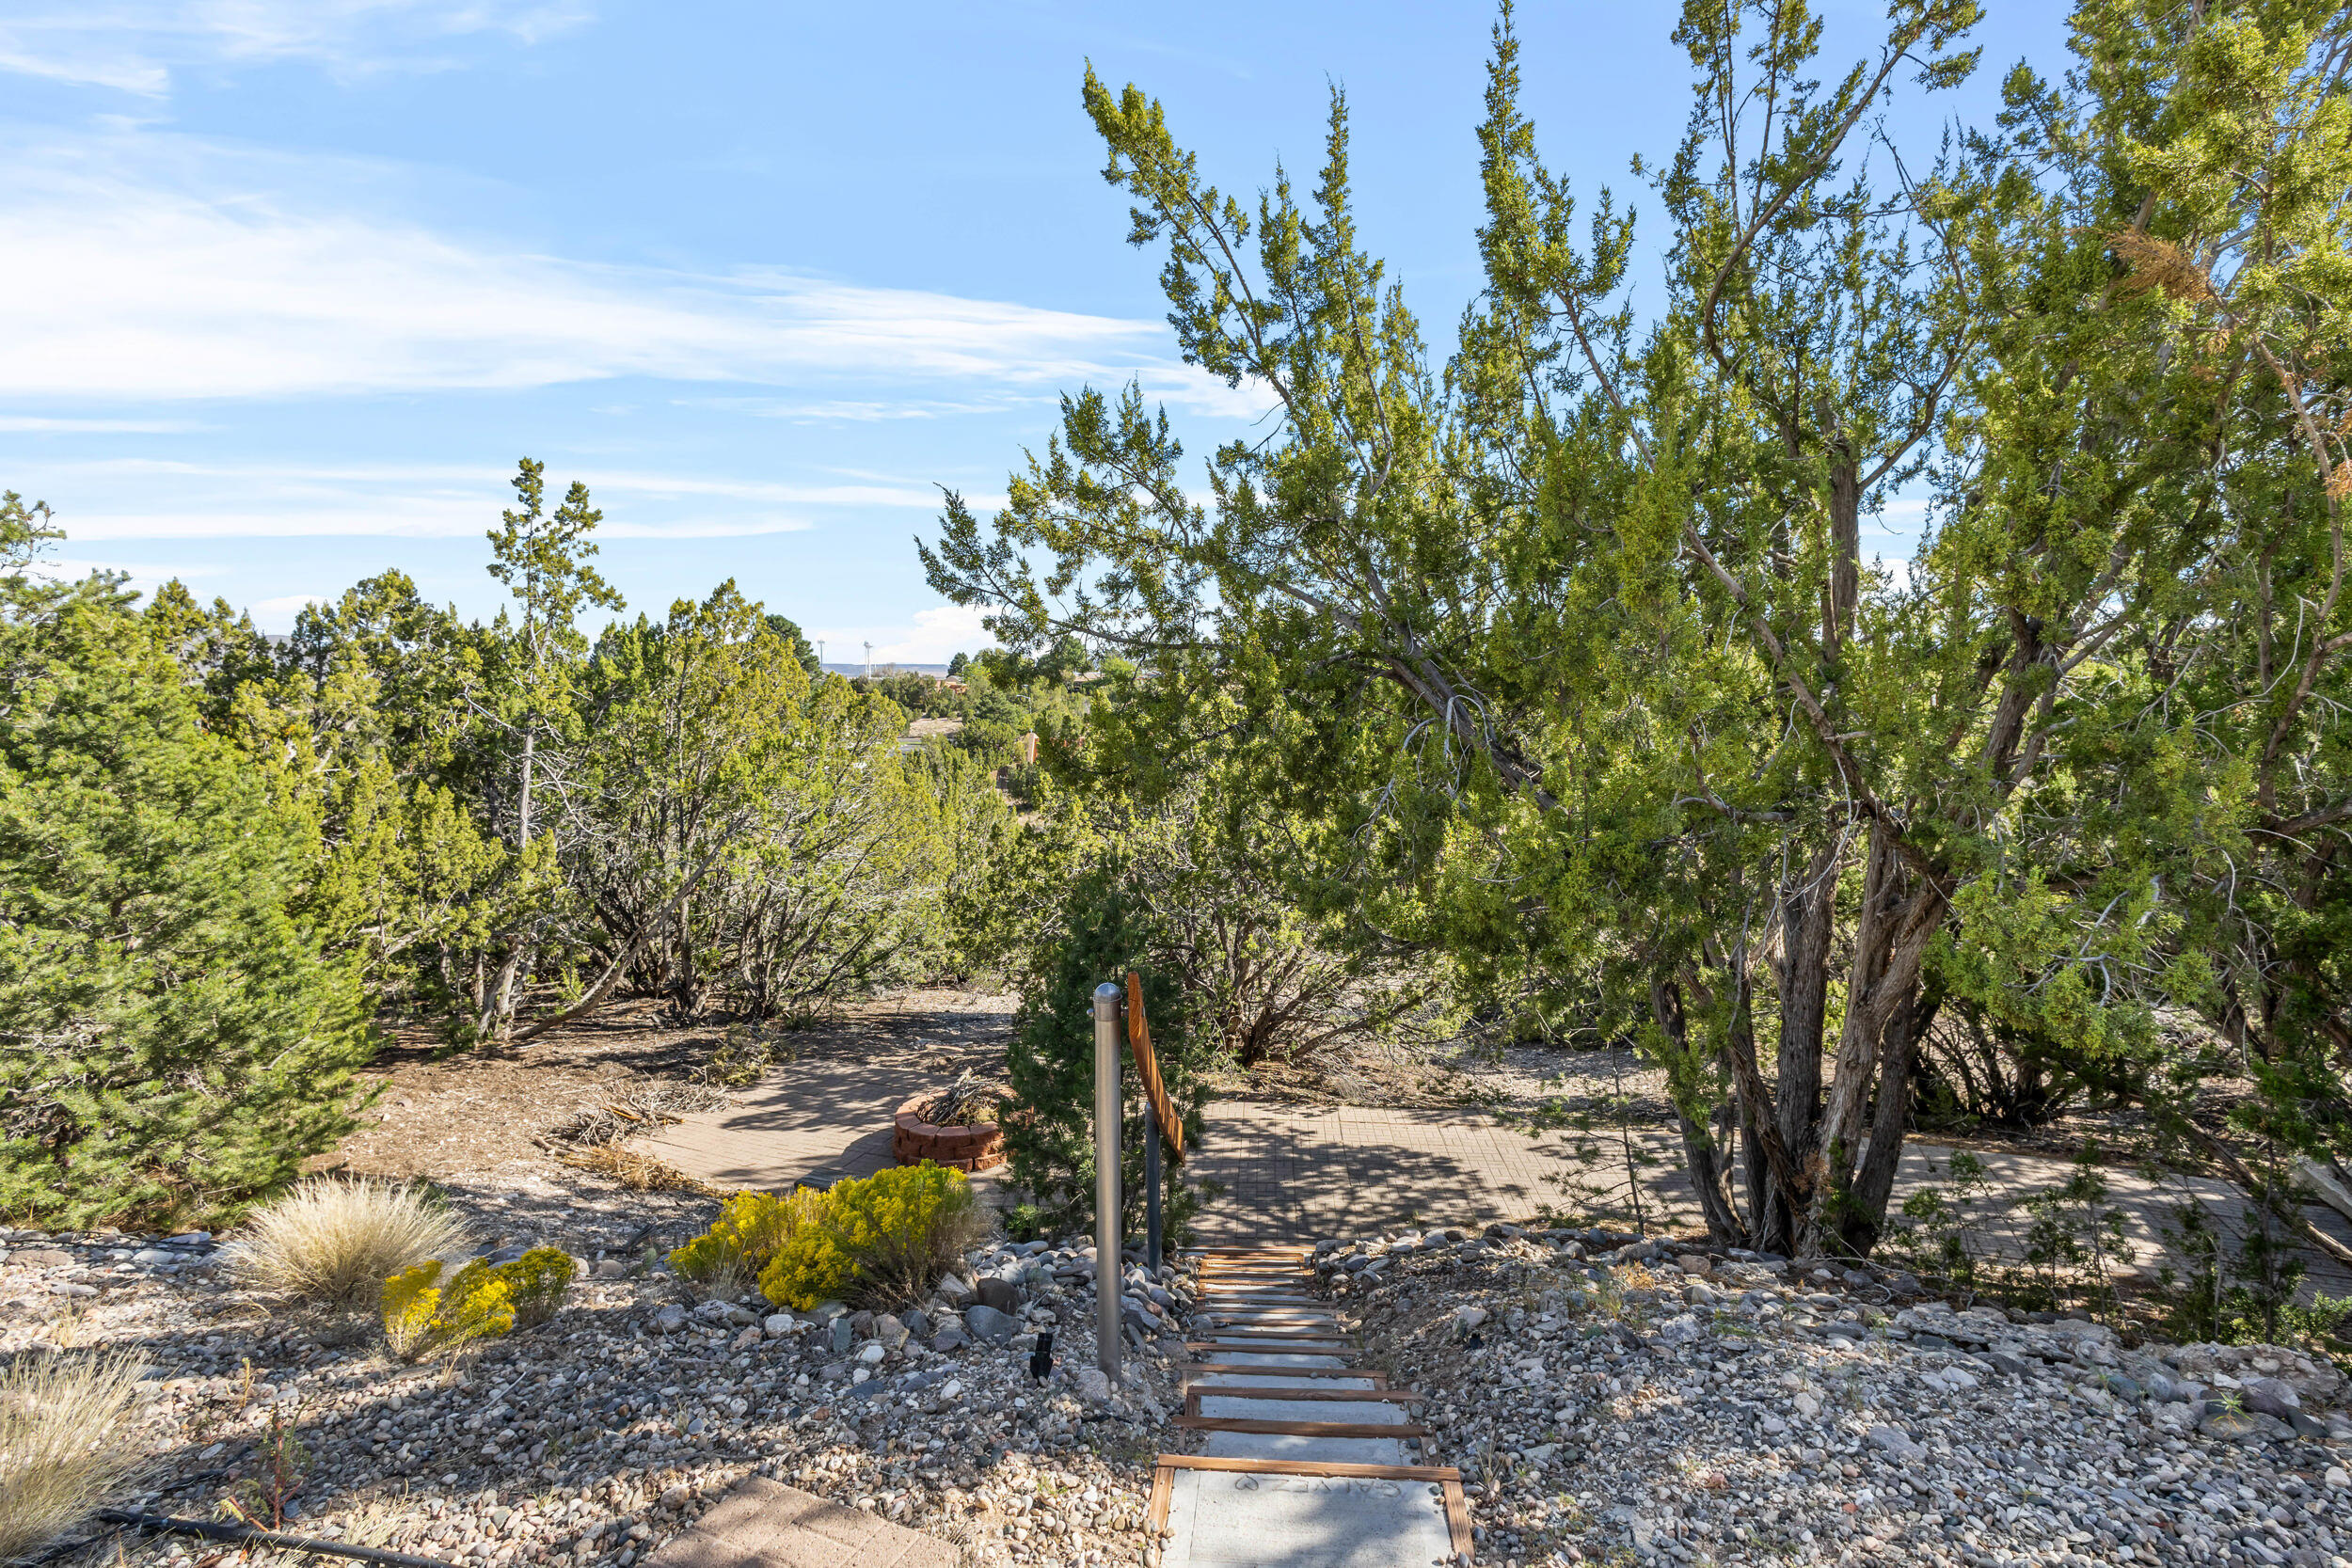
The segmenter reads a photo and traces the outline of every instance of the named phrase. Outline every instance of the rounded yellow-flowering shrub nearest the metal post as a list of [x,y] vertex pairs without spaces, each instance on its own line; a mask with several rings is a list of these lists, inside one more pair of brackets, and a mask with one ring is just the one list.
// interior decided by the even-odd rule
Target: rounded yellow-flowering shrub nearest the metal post
[[929,1161],[800,1197],[814,1199],[814,1222],[776,1251],[760,1291],[802,1312],[847,1295],[920,1300],[988,1227],[964,1173]]

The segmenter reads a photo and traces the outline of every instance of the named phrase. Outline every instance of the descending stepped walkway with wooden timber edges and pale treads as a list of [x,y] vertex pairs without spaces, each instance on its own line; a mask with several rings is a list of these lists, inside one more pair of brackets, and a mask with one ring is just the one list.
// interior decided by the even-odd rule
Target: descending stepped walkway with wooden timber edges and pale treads
[[[1150,1523],[1160,1568],[1430,1568],[1468,1561],[1461,1472],[1418,1465],[1421,1396],[1350,1363],[1355,1345],[1312,1295],[1305,1253],[1209,1251],[1195,1366],[1176,1425],[1200,1453],[1162,1453]],[[1148,1559],[1150,1561],[1150,1559]]]

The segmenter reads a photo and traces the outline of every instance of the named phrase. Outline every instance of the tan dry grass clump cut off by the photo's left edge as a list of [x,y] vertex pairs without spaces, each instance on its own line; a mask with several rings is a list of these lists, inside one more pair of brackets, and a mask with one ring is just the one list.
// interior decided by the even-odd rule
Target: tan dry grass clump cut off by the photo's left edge
[[134,1356],[24,1356],[0,1373],[0,1561],[59,1540],[139,1469]]

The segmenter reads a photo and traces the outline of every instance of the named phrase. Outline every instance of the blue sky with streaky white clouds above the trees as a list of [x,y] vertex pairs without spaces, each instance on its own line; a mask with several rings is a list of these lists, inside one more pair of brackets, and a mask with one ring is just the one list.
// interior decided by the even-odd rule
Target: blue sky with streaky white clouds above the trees
[[[1670,5],[1524,5],[1581,190],[1672,148]],[[1832,54],[1875,5],[1823,7]],[[1999,66],[2060,9],[1992,0]],[[285,630],[386,567],[466,614],[517,456],[604,508],[659,614],[734,576],[828,658],[985,642],[922,583],[1054,397],[1141,378],[1195,451],[1258,402],[1176,362],[1157,256],[1077,103],[1167,101],[1225,188],[1319,160],[1350,96],[1369,244],[1432,346],[1477,287],[1486,5],[9,0],[0,487],[68,569],[181,576]],[[1903,538],[1884,541],[1889,555]]]

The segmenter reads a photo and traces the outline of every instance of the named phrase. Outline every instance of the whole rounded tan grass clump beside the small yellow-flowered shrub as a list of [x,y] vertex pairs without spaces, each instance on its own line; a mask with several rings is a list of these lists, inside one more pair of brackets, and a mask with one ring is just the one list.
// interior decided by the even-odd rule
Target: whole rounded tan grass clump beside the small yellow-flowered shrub
[[466,1225],[416,1187],[308,1180],[254,1215],[230,1260],[256,1286],[367,1307],[393,1274],[463,1244]]

